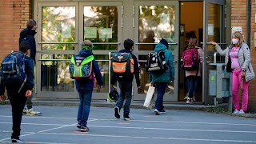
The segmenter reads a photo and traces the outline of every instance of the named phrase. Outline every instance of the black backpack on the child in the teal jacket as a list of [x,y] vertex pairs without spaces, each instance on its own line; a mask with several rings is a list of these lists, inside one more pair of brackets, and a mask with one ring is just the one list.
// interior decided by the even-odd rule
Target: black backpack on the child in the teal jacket
[[147,71],[151,73],[159,72],[167,69],[167,64],[165,60],[165,52],[167,50],[153,51],[148,54],[148,59],[146,62]]

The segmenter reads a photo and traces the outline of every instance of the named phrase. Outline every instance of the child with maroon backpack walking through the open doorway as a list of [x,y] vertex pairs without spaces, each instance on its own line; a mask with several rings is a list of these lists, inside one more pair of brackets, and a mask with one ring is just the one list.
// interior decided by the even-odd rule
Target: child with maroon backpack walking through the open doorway
[[200,65],[202,48],[198,47],[197,38],[190,38],[187,49],[182,54],[182,69],[186,73],[187,95],[186,103],[195,101],[198,92],[198,80],[201,77],[202,66]]

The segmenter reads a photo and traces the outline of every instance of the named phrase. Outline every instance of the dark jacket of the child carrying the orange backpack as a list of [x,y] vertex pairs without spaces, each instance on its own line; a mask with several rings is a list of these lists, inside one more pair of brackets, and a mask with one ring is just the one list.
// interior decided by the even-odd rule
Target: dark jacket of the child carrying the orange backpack
[[[126,50],[126,49],[119,50],[119,52],[120,53],[131,53],[130,50]],[[137,58],[135,57],[134,54],[132,54],[132,58],[134,59],[134,74],[130,74],[127,77],[124,76],[122,78],[119,78],[116,74],[111,74],[111,85],[114,85],[117,82],[117,80],[118,81],[130,81],[130,82],[132,82],[134,80],[134,75],[135,75],[137,86],[141,86],[141,82],[139,81],[138,60],[137,60]]]

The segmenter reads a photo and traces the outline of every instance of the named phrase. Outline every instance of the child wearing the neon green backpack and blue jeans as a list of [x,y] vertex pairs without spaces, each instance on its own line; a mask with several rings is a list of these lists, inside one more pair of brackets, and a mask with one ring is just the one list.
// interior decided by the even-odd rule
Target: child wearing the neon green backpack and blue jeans
[[[70,70],[70,77],[75,79],[75,86],[78,90],[79,94],[79,107],[78,107],[78,129],[82,132],[89,131],[87,126],[88,117],[90,114],[90,102],[92,93],[94,90],[94,75],[98,82],[98,90],[102,90],[103,82],[102,82],[102,74],[99,70],[98,62],[94,59],[94,54],[92,53],[93,44],[89,40],[85,40],[82,42],[82,50],[79,51],[78,56],[74,56],[75,58],[71,59],[71,62],[91,62],[91,65],[82,66],[81,69],[78,66],[78,69]],[[89,59],[86,59],[89,58]],[[82,61],[82,59],[86,59],[86,61]],[[70,64],[70,67],[72,64]],[[88,68],[88,67],[89,68]],[[80,73],[75,74],[76,71],[80,71]],[[75,72],[74,72],[75,71]],[[82,75],[79,75],[82,74]]]

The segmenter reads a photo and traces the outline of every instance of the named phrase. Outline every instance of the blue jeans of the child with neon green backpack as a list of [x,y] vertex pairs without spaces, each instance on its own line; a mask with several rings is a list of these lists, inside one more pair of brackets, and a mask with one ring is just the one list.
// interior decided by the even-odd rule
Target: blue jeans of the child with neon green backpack
[[78,107],[78,122],[81,126],[86,126],[90,114],[90,102],[93,94],[92,90],[78,90],[79,93],[79,107]]

